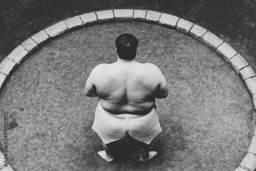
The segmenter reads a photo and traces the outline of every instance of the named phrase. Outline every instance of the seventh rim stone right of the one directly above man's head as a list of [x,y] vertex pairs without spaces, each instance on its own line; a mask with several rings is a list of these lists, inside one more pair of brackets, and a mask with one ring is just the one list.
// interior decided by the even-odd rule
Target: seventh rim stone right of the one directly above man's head
[[227,62],[237,54],[233,48],[231,48],[226,42],[221,44],[216,51],[219,55],[221,55]]

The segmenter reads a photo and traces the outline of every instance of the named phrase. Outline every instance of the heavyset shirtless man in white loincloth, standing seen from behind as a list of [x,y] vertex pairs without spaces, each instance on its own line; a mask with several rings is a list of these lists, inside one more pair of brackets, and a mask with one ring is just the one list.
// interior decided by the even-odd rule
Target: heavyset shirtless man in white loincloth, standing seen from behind
[[146,153],[145,162],[157,153],[148,145],[160,133],[155,98],[166,98],[168,87],[162,72],[152,63],[135,61],[138,39],[122,34],[116,39],[117,61],[96,66],[86,83],[86,95],[99,97],[93,130],[102,140],[98,154],[114,160],[118,140],[129,134]]

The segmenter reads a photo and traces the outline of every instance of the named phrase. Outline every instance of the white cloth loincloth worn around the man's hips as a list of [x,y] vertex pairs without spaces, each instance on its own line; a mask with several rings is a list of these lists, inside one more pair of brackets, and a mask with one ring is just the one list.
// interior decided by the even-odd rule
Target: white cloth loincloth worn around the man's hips
[[92,129],[104,144],[117,141],[129,134],[134,139],[150,144],[162,130],[154,107],[147,115],[118,114],[105,111],[98,103]]

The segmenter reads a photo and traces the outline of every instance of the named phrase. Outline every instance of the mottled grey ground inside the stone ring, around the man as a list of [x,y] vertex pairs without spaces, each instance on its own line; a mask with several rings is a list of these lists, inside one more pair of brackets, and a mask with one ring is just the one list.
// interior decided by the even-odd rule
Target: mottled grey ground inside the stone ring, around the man
[[163,130],[153,147],[158,155],[133,169],[238,166],[253,129],[251,99],[239,76],[189,36],[151,24],[113,23],[53,40],[10,78],[0,96],[0,112],[11,114],[9,161],[15,170],[120,170],[136,153],[130,151],[133,141],[124,139],[115,163],[96,155],[102,150],[91,130],[97,99],[84,94],[92,68],[116,60],[114,41],[125,32],[140,41],[138,61],[155,63],[169,85],[169,96],[157,100]]

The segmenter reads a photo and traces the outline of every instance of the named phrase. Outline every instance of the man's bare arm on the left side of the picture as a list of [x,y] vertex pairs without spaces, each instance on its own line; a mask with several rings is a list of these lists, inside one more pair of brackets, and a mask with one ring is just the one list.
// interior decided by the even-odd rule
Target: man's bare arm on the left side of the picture
[[97,74],[97,72],[95,71],[95,68],[94,68],[86,82],[86,90],[85,91],[86,91],[86,95],[88,97],[98,97],[99,96],[96,91],[96,87],[95,87],[95,78],[96,78],[95,74]]

